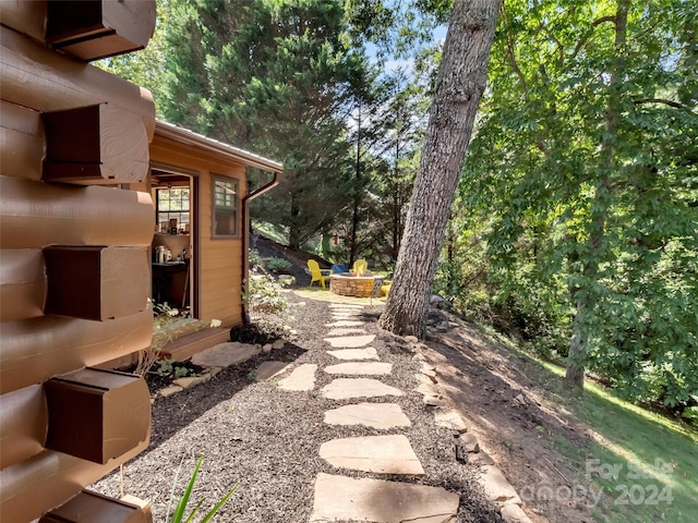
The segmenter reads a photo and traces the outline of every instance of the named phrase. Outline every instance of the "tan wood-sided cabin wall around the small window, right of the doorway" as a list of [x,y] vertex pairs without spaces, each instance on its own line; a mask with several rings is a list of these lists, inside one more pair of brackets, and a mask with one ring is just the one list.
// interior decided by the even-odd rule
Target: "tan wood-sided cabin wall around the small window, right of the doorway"
[[[200,253],[198,293],[200,319],[220,319],[225,327],[242,323],[242,216],[240,204],[246,194],[245,165],[222,156],[216,157],[195,146],[177,143],[159,136],[157,131],[151,144],[151,160],[159,165],[194,171],[198,178],[198,200],[194,207],[198,216]],[[213,235],[213,177],[238,182],[238,235]]]

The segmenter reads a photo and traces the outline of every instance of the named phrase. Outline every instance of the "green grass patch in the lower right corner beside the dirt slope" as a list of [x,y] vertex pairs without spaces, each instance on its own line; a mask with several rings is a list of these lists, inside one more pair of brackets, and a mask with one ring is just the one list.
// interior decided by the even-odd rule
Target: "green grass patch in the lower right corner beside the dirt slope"
[[[592,514],[600,523],[698,520],[698,434],[660,414],[623,401],[587,381],[582,394],[562,387],[561,367],[537,361],[550,398],[573,419],[585,422],[589,449],[555,441],[580,474],[605,496]],[[529,376],[533,378],[533,376]]]

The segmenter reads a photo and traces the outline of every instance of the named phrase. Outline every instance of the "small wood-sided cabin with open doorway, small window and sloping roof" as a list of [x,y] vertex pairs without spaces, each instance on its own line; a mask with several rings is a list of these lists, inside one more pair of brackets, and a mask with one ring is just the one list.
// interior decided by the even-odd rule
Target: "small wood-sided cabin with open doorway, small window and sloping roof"
[[[248,272],[249,202],[277,184],[282,166],[185,129],[157,121],[151,143],[151,171],[143,184],[153,216],[153,301],[188,309],[220,328],[180,337],[164,349],[184,360],[226,341],[244,320],[242,289]],[[248,168],[268,172],[268,183],[248,191]],[[158,259],[165,247],[169,263]]]

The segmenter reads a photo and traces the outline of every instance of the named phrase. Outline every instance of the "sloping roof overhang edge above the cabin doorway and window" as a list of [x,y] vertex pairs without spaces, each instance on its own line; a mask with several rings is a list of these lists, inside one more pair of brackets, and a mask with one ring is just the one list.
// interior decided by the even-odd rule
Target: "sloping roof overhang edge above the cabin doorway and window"
[[171,139],[179,144],[190,145],[215,156],[239,161],[245,166],[262,169],[264,171],[272,171],[275,173],[284,171],[284,166],[278,161],[264,158],[263,156],[255,155],[249,150],[239,149],[232,145],[208,138],[202,134],[194,133],[188,129],[163,122],[160,120],[155,121],[155,135]]

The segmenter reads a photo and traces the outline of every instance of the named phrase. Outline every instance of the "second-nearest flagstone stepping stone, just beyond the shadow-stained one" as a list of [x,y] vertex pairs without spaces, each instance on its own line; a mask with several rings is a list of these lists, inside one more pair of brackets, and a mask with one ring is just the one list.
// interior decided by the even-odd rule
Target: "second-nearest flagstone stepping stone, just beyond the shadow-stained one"
[[320,446],[320,457],[339,469],[424,475],[409,439],[401,434],[333,439]]

